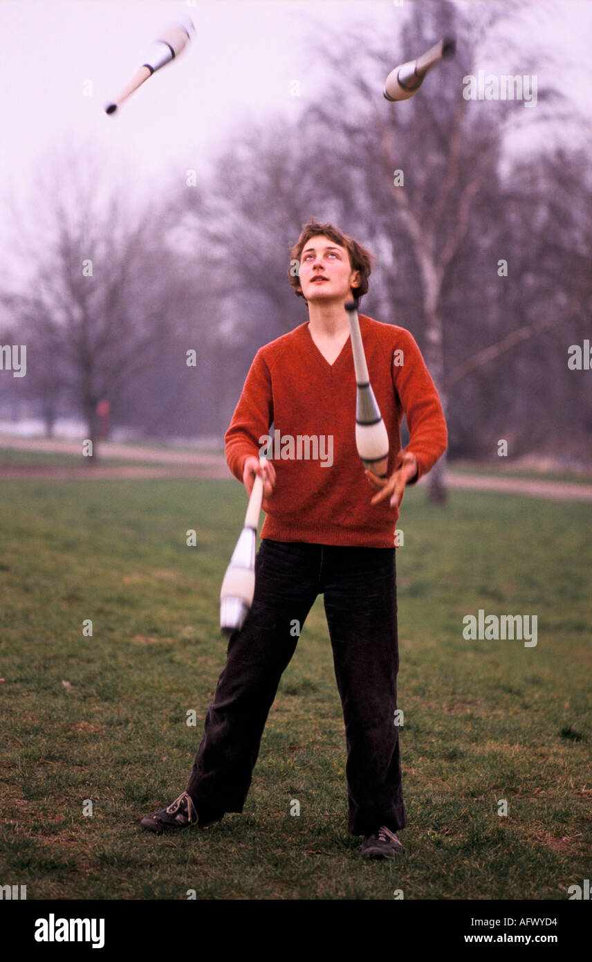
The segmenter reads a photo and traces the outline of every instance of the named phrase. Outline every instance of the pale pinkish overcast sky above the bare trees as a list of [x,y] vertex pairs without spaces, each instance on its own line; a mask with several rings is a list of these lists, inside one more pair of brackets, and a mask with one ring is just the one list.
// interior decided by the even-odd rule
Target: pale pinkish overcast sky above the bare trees
[[[538,0],[532,3],[540,10]],[[408,0],[403,7],[387,0],[4,0],[2,190],[26,195],[46,152],[65,136],[74,144],[91,139],[106,166],[125,165],[143,190],[158,188],[175,171],[185,176],[187,168],[199,170],[237,118],[259,120],[270,111],[296,116],[323,95],[322,75],[312,75],[306,65],[311,33],[361,19],[393,38],[394,66],[401,54],[399,26],[409,7]],[[514,30],[512,38],[525,52],[534,45],[561,55],[565,73],[559,80],[590,116],[592,2],[557,0],[544,9],[523,36],[517,38]],[[191,46],[117,114],[105,114],[105,103],[127,84],[151,40],[178,13],[189,14],[195,24]],[[516,69],[515,63],[499,63],[500,72]],[[299,97],[290,93],[294,80]],[[86,81],[92,96],[84,95]],[[539,77],[539,89],[544,82]],[[6,244],[6,236],[1,242]]]

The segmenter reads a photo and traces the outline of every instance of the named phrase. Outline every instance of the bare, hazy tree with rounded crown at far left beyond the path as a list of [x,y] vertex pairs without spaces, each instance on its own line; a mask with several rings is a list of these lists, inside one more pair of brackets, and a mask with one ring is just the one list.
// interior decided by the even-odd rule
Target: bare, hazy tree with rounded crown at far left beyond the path
[[66,149],[42,169],[35,216],[14,212],[26,287],[5,289],[2,302],[29,344],[30,394],[48,424],[61,395],[82,413],[92,464],[98,402],[116,404],[166,339],[172,297],[162,274],[172,256],[158,240],[159,212],[134,210],[98,156]]

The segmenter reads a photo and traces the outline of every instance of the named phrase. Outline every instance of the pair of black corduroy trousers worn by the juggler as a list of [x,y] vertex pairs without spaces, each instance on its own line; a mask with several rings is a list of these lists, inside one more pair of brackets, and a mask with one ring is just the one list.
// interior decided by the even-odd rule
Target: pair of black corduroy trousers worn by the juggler
[[[187,792],[201,823],[241,812],[280,678],[324,595],[347,744],[348,827],[407,823],[397,707],[395,548],[262,539],[253,605],[230,638]],[[297,626],[295,626],[297,622]]]

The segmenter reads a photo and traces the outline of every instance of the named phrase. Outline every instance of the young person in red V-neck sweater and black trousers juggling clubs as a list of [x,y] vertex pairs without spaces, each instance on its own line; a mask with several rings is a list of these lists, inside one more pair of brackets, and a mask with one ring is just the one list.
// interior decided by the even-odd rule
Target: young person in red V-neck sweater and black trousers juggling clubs
[[[344,305],[368,290],[370,255],[332,224],[311,222],[291,256],[297,270],[289,271],[290,284],[308,303],[308,323],[259,349],[225,438],[228,465],[247,492],[256,475],[263,479],[253,605],[231,636],[186,791],[141,824],[174,831],[242,811],[267,715],[298,640],[294,620],[302,629],[322,593],[345,721],[349,830],[364,836],[363,855],[392,857],[402,851],[397,831],[407,823],[394,719],[395,530],[405,486],[446,449],[446,423],[411,335],[359,315],[389,437],[387,477],[364,471]],[[409,444],[402,451],[404,414]],[[272,422],[273,456],[261,466]]]

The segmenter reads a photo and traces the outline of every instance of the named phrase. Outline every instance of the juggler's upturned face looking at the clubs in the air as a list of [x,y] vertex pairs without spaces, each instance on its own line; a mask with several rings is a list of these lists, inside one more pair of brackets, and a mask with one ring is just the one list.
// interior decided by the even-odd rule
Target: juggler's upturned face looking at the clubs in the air
[[303,248],[298,279],[298,290],[309,302],[345,304],[359,284],[359,271],[352,270],[345,247],[319,235]]

